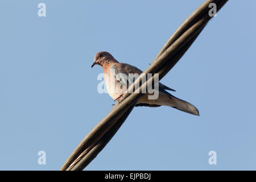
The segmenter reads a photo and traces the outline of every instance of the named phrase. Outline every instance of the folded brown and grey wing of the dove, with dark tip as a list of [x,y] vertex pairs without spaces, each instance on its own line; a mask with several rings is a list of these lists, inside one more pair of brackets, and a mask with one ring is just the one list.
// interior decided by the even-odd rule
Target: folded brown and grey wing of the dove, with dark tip
[[[115,78],[120,81],[123,85],[131,85],[137,79],[139,75],[141,75],[141,69],[134,67],[133,65],[126,64],[126,63],[117,63],[112,67],[114,69]],[[129,73],[132,73],[129,75]],[[159,90],[171,90],[174,89],[169,88],[168,86],[161,84],[159,82]]]

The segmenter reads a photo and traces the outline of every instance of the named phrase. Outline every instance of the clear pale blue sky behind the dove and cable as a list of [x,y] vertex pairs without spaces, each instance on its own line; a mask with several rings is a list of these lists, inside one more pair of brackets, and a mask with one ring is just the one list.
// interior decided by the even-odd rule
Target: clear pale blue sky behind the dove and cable
[[[0,169],[58,170],[114,104],[97,92],[94,55],[108,51],[144,70],[203,2],[1,1]],[[255,6],[226,3],[161,80],[200,117],[135,107],[86,169],[255,170]]]

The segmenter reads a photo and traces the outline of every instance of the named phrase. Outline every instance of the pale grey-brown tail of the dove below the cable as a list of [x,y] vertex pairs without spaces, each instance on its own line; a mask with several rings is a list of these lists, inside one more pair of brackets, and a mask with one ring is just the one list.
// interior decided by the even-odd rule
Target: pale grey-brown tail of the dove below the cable
[[199,110],[196,109],[196,107],[193,106],[192,104],[174,96],[169,96],[169,97],[172,100],[172,102],[170,102],[171,105],[168,105],[168,102],[166,103],[166,105],[174,107],[175,109],[179,109],[189,114],[199,115]]

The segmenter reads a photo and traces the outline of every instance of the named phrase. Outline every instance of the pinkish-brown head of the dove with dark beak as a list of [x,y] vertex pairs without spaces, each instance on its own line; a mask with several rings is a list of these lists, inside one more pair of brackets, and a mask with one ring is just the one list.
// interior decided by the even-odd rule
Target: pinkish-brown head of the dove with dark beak
[[101,67],[104,67],[104,65],[109,64],[110,62],[117,62],[117,60],[114,59],[114,57],[108,53],[108,52],[98,52],[94,56],[94,62],[92,64],[92,67],[96,64],[100,65]]

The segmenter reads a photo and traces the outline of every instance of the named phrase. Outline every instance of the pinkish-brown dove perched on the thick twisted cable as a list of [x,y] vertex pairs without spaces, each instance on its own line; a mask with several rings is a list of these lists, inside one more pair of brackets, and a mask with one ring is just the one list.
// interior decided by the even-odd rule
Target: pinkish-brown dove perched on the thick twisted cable
[[[125,75],[129,75],[129,73],[133,73],[140,75],[142,71],[133,65],[119,63],[114,57],[108,52],[98,52],[94,57],[94,65],[100,65],[104,71],[104,81],[106,84],[106,88],[110,97],[112,97],[115,101],[119,100],[122,96],[122,91],[113,89],[117,84],[126,84],[123,81],[123,78],[118,76],[119,73],[123,73]],[[111,84],[111,76],[110,74],[113,72],[114,74],[114,84]],[[129,80],[128,80],[129,81]],[[148,93],[143,94],[141,98],[139,98],[136,106],[148,106],[148,107],[159,107],[159,106],[170,106],[174,107],[175,109],[179,109],[186,113],[199,115],[199,110],[196,109],[195,106],[189,104],[186,101],[183,101],[172,94],[168,93],[166,90],[175,91],[174,89],[169,88],[166,85],[163,85],[159,82],[159,96],[155,100],[148,99]]]

